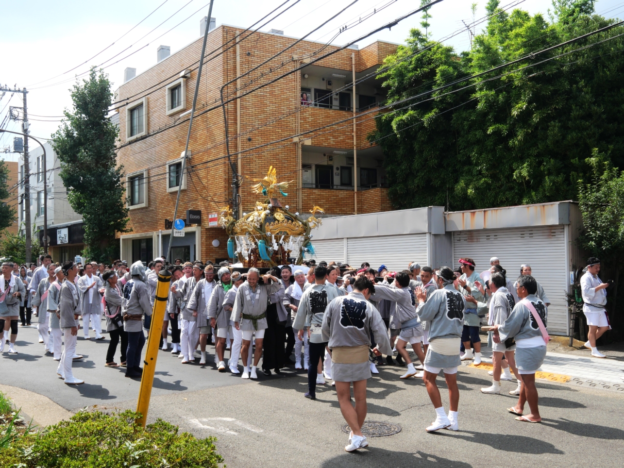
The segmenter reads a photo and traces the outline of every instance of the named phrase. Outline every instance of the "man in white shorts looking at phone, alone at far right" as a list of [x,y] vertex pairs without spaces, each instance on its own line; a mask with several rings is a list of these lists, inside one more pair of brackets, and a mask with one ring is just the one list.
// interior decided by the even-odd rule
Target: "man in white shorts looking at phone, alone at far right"
[[591,256],[587,259],[587,273],[581,277],[583,313],[589,326],[585,348],[592,350],[594,358],[606,358],[607,356],[600,353],[598,348],[596,348],[596,340],[611,328],[607,311],[605,310],[609,283],[603,283],[598,278],[598,273],[600,273],[600,259]]

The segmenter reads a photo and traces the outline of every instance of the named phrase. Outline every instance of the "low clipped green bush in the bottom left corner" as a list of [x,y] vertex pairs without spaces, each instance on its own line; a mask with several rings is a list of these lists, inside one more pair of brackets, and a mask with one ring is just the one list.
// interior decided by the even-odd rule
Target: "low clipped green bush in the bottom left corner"
[[41,434],[0,449],[0,467],[19,468],[212,468],[223,462],[215,438],[195,439],[158,419],[145,429],[133,411],[79,412]]

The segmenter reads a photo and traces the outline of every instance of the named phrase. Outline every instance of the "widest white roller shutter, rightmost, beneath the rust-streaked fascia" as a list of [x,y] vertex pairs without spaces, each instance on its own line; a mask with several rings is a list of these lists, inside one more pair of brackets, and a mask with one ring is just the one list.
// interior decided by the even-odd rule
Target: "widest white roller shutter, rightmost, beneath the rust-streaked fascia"
[[460,257],[467,256],[477,264],[478,273],[489,269],[490,258],[497,256],[512,281],[520,275],[520,265],[528,263],[550,300],[548,331],[569,333],[563,226],[454,232],[453,255],[453,268]]

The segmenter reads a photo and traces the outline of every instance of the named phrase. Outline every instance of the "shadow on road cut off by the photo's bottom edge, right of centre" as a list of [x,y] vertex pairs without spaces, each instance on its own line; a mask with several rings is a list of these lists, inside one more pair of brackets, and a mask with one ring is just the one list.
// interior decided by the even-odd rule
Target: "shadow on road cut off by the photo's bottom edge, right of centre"
[[[346,442],[346,439],[345,439]],[[373,439],[374,445],[374,439]],[[379,467],[419,467],[419,468],[472,468],[472,465],[442,458],[425,452],[398,452],[367,447],[357,452],[344,453],[325,461],[323,468],[379,468]]]

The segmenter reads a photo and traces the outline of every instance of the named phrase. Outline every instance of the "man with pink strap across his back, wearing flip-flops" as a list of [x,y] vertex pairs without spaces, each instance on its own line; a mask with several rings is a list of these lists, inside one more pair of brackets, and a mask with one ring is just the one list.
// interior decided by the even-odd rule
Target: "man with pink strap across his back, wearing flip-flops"
[[[518,402],[509,411],[518,415],[515,418],[518,421],[540,422],[542,417],[537,406],[535,371],[544,363],[546,343],[550,339],[545,329],[548,310],[537,296],[537,281],[533,276],[522,275],[516,284],[520,302],[502,325],[496,325],[492,329],[492,338],[494,343],[500,343],[507,338],[515,339],[515,364],[522,385]],[[535,311],[535,315],[531,309]],[[540,325],[544,326],[544,333],[540,330]],[[525,402],[529,402],[530,414],[524,414]]]

